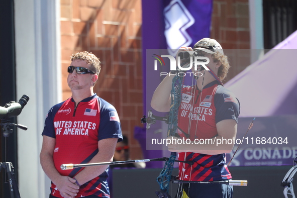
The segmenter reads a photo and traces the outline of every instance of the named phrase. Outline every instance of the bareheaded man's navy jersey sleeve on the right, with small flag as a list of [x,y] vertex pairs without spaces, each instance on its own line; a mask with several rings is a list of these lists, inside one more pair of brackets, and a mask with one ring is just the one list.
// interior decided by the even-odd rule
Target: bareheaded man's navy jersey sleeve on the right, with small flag
[[98,141],[107,138],[118,138],[118,142],[123,140],[121,123],[116,109],[104,102],[100,101],[100,125],[98,129]]

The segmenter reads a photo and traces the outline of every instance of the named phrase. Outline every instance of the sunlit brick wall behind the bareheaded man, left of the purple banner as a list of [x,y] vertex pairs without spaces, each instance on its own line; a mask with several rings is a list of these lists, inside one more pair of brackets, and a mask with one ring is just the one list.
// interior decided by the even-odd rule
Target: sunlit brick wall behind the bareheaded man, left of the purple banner
[[71,54],[86,50],[100,57],[94,92],[116,107],[133,159],[142,158],[133,138],[143,115],[141,23],[141,0],[61,0],[63,100],[71,96],[66,80]]

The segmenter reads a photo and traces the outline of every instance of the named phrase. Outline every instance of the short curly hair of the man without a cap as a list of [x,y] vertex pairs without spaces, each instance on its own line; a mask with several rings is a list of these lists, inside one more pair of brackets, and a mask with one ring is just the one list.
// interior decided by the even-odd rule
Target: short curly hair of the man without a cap
[[73,60],[84,60],[88,64],[90,64],[90,70],[93,71],[95,74],[99,75],[100,70],[101,70],[101,65],[100,65],[100,60],[97,58],[94,54],[91,52],[77,52],[75,54],[72,54],[71,61]]

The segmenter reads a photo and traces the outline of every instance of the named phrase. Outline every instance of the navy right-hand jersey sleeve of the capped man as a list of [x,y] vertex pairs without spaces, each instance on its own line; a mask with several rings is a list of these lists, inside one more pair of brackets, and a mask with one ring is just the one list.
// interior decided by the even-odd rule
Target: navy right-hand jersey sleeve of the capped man
[[232,92],[216,94],[216,123],[233,119],[238,122],[240,103]]

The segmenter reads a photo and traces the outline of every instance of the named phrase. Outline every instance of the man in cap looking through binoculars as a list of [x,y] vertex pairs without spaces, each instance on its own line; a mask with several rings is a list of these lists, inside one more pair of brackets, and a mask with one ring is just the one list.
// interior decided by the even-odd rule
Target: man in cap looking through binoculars
[[[226,165],[226,153],[234,146],[240,104],[237,98],[223,86],[230,68],[221,45],[214,39],[204,38],[193,49],[182,47],[181,51],[196,51],[200,57],[209,59],[206,66],[198,67],[203,76],[196,78],[192,86],[182,85],[182,100],[178,110],[178,135],[188,134],[190,144],[171,144],[168,149],[178,152],[178,160],[192,161],[193,165],[179,163],[180,180],[221,181],[231,179]],[[159,112],[168,112],[171,104],[171,83],[174,75],[169,73],[155,90],[151,106]],[[186,99],[185,99],[186,98]],[[182,132],[182,131],[184,132]],[[176,138],[176,137],[170,137]],[[229,141],[228,141],[229,140]],[[233,188],[226,184],[191,183],[182,186],[191,198],[232,197]]]

